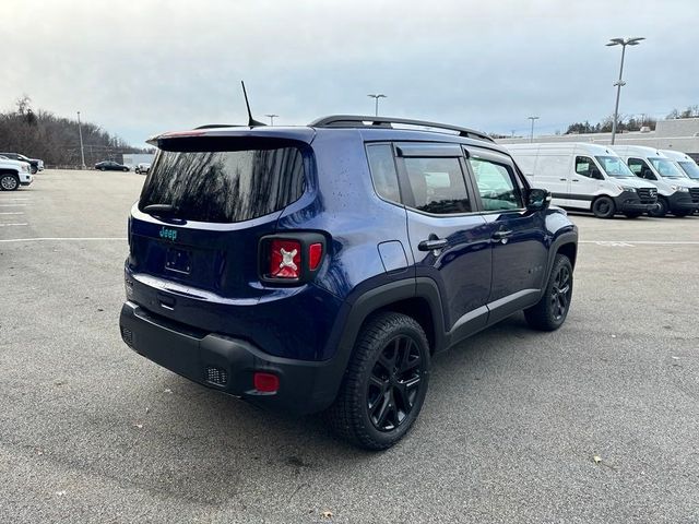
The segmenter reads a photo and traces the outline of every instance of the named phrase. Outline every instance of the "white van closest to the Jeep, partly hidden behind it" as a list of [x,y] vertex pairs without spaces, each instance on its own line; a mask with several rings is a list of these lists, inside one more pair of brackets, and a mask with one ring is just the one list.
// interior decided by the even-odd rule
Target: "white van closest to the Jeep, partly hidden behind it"
[[616,153],[584,142],[507,144],[533,187],[552,192],[561,207],[637,217],[656,206],[657,189],[636,177]]

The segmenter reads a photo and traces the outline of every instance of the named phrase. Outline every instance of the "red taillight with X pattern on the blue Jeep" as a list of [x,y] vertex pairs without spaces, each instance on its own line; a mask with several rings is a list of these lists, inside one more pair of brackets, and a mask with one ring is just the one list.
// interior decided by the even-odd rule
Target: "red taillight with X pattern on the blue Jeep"
[[325,238],[295,231],[260,239],[260,279],[298,285],[310,281],[322,265]]

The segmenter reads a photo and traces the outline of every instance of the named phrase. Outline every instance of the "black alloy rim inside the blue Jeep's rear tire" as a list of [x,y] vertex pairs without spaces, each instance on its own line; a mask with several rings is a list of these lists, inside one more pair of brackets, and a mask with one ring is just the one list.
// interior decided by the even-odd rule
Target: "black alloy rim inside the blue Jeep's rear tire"
[[367,410],[374,427],[392,431],[403,424],[419,393],[420,350],[406,335],[396,336],[381,350],[367,388]]

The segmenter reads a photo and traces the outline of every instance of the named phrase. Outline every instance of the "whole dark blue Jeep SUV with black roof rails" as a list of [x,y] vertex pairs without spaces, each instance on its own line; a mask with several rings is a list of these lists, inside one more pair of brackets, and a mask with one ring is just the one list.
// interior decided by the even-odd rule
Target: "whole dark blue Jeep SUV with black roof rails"
[[577,227],[485,134],[335,116],[153,143],[121,336],[194,382],[386,449],[435,353],[520,310],[566,319]]

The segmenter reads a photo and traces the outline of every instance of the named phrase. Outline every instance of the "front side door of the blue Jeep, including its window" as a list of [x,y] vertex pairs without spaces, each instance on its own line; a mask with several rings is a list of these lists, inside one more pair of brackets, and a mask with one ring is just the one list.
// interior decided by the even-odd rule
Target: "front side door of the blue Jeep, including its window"
[[467,164],[477,205],[491,239],[493,278],[488,323],[497,322],[538,300],[547,275],[545,213],[528,212],[526,182],[509,156],[467,147]]

